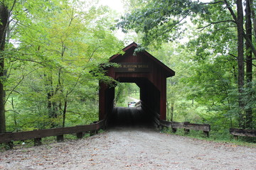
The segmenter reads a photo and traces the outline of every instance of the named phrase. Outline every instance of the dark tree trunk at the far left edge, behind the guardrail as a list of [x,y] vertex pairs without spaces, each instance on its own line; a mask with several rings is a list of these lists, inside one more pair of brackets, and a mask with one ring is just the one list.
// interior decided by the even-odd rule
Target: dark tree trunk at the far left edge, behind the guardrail
[[4,46],[8,26],[9,12],[4,4],[0,4],[0,133],[6,132],[5,91],[4,91]]

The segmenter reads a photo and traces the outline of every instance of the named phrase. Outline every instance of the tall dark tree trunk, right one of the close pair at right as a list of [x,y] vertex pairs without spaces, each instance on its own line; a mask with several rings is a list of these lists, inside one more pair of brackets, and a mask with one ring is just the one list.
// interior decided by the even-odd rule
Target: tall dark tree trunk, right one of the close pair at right
[[[252,41],[252,16],[251,16],[251,2],[252,0],[246,0],[245,8],[245,32],[247,38]],[[252,98],[252,50],[248,42],[245,42],[246,46],[246,82],[249,93],[247,98]],[[245,128],[252,129],[252,108],[249,107],[245,110]]]

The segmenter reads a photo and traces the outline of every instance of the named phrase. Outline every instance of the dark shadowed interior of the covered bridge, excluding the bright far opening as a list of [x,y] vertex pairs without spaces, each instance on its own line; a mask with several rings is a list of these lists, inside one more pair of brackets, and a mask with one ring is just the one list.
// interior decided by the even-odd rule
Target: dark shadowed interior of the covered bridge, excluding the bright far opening
[[[108,127],[154,128],[159,120],[159,91],[147,79],[119,79],[120,82],[134,82],[140,89],[137,107],[114,107],[107,117]],[[113,89],[112,92],[114,93]]]

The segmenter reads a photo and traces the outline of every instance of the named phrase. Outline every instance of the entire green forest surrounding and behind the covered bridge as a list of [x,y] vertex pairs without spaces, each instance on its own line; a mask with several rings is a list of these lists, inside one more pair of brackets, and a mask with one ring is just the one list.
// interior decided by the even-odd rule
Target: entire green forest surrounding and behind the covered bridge
[[[176,72],[168,120],[256,128],[255,1],[123,4],[120,16],[96,0],[1,0],[0,132],[97,120],[98,81],[112,81],[99,65],[133,41]],[[137,92],[118,84],[116,102]]]

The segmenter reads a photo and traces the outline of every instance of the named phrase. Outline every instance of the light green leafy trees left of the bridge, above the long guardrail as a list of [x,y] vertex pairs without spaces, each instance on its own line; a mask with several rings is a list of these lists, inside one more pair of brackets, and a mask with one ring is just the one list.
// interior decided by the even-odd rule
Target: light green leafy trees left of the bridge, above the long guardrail
[[5,52],[9,131],[98,119],[98,81],[112,81],[100,65],[122,49],[122,42],[110,30],[108,8],[96,6],[97,1],[14,4]]

